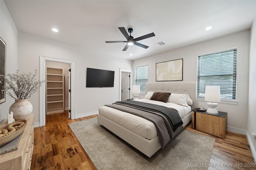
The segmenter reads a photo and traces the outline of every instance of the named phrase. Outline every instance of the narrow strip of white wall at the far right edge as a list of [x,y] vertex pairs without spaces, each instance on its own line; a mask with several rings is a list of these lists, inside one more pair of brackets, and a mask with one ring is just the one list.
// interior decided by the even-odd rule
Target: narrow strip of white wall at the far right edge
[[[248,125],[247,132],[254,147],[254,160],[256,161],[256,140],[252,138],[252,132],[256,135],[256,18],[251,28],[251,43],[250,43],[250,67],[249,67],[249,97],[248,97]],[[252,147],[251,147],[252,148]]]

